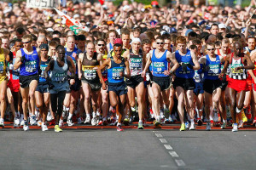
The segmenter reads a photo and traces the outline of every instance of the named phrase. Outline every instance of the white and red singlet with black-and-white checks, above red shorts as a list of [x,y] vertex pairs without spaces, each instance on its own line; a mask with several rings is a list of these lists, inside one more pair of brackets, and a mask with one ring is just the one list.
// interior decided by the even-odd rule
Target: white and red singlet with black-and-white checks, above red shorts
[[231,62],[230,62],[230,74],[229,77],[236,79],[236,80],[245,80],[247,79],[247,71],[246,69],[240,69],[235,70],[238,66],[244,66],[242,63],[242,57],[244,54],[241,54],[242,56],[239,59],[234,59],[234,53],[231,54]]

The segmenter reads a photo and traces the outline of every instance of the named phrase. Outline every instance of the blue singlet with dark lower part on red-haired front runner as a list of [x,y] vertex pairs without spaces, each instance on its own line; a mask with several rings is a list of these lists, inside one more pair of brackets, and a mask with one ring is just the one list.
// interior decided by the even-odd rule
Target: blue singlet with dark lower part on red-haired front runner
[[[190,65],[194,65],[191,54],[189,49],[187,49],[187,54],[185,55],[181,55],[178,53],[178,50],[175,52],[175,58],[177,59],[178,64],[190,64]],[[176,77],[180,77],[180,78],[193,78],[195,71],[193,69],[190,69],[189,67],[187,67],[187,71],[183,71],[182,66],[179,66],[177,68],[177,70],[175,71],[176,73]]]

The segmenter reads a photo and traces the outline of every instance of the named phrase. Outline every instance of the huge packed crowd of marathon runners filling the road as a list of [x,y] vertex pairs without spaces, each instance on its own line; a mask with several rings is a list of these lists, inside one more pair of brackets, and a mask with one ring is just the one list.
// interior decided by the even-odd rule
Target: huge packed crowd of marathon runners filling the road
[[67,1],[59,9],[84,26],[74,31],[54,9],[1,3],[0,127],[8,113],[24,131],[255,125],[255,2],[199,5]]

